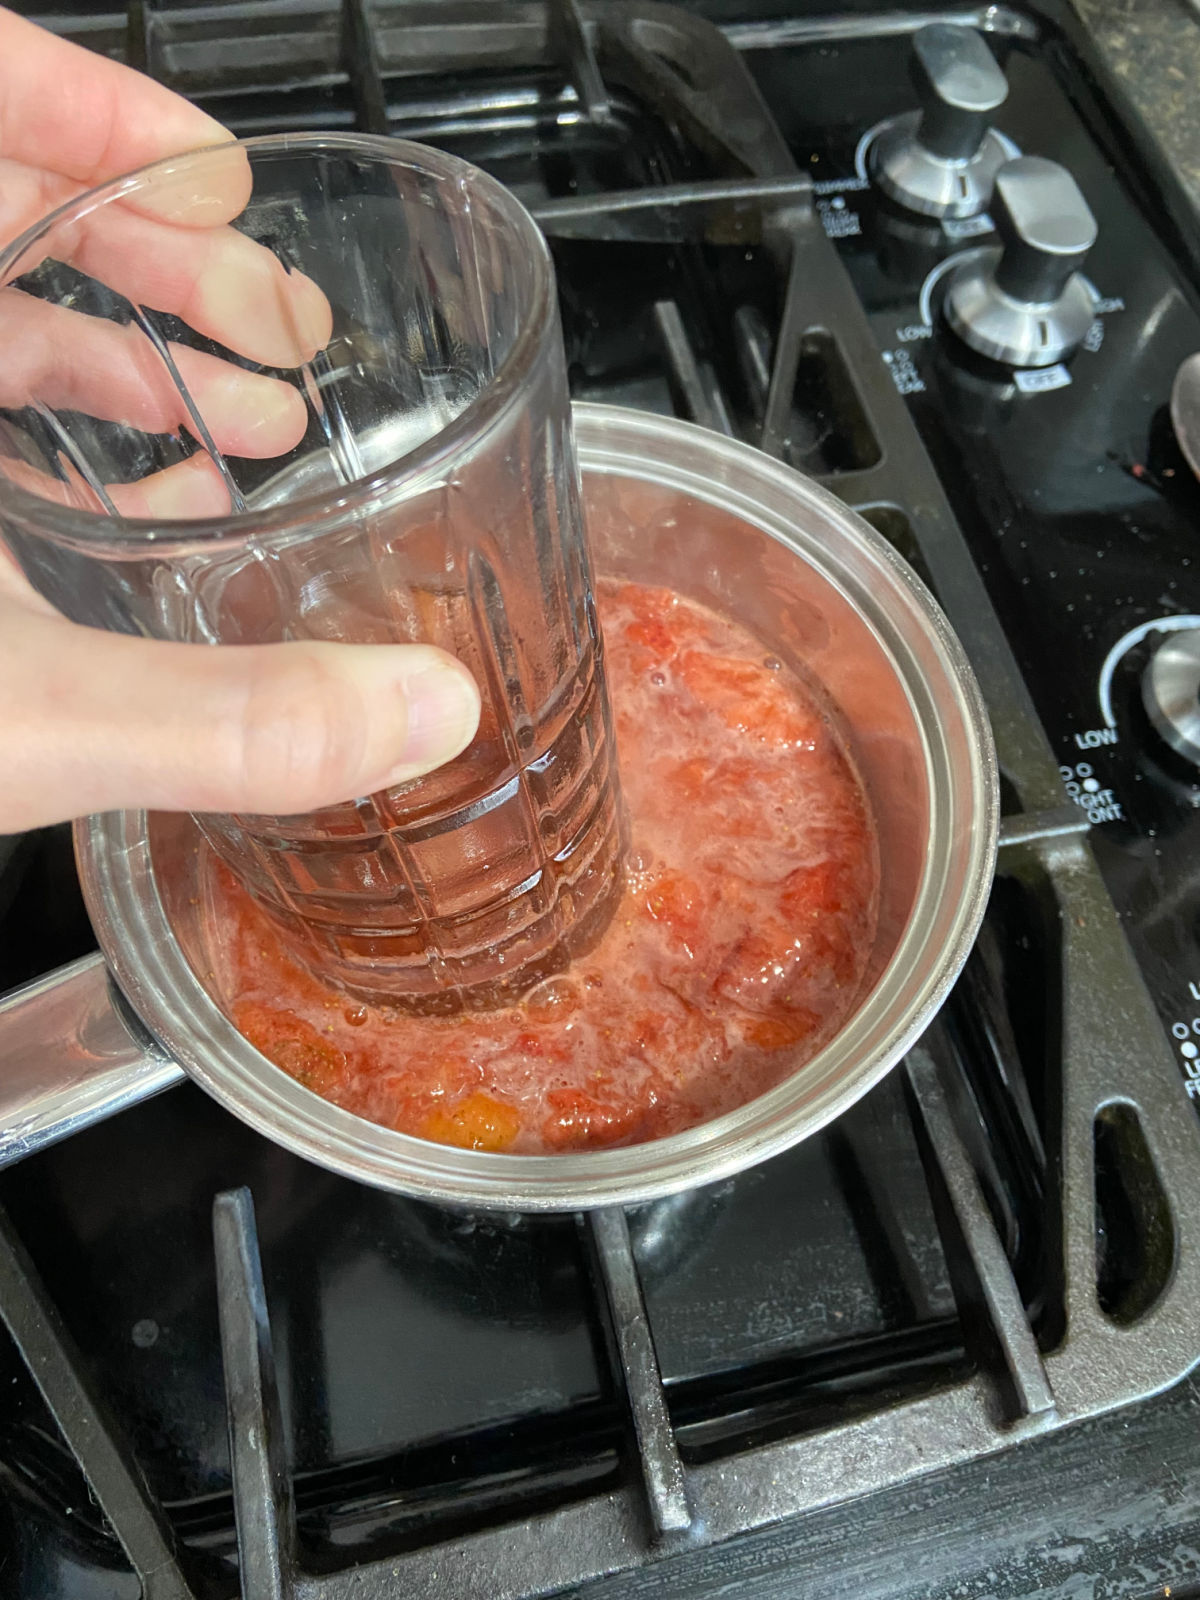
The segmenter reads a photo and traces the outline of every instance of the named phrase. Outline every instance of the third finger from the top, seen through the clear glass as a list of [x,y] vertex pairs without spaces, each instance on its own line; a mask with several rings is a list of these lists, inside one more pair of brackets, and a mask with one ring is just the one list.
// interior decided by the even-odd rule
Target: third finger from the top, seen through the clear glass
[[[147,434],[173,434],[192,418],[165,362],[136,326],[120,326],[0,290],[0,408],[42,402]],[[269,458],[304,437],[299,390],[182,346],[171,357],[218,450]]]

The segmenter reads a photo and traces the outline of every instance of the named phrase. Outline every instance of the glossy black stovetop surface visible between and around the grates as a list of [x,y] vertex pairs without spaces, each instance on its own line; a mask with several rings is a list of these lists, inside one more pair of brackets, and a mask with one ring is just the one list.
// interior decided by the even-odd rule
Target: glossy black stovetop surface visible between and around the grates
[[[378,126],[386,112],[392,133],[478,162],[534,210],[728,176],[720,154],[619,75],[610,114],[589,117],[571,74],[554,64],[542,10],[446,3],[379,6],[368,16],[354,3],[341,13],[282,11],[248,0],[186,11],[138,5],[130,21],[101,11],[51,21],[149,64],[237,133]],[[1024,150],[1066,163],[1099,224],[1086,267],[1101,298],[1099,333],[1088,339],[1094,347],[1067,365],[1069,382],[1026,392],[1011,371],[968,357],[939,326],[944,277],[922,299],[928,275],[979,240],[914,226],[862,179],[864,134],[912,106],[912,19],[845,6],[858,13],[856,24],[843,18],[821,27],[800,3],[776,6],[784,14],[771,21],[750,6],[718,10],[795,163],[816,182],[819,219],[878,344],[878,366],[866,373],[845,365],[837,330],[808,338],[786,454],[835,490],[842,477],[850,482],[885,459],[893,442],[875,430],[864,395],[891,373],[1054,754],[1070,770],[1072,794],[1094,813],[1101,866],[1162,1019],[1190,1026],[1200,894],[1186,885],[1200,870],[1200,787],[1141,712],[1138,672],[1152,634],[1115,669],[1115,738],[1085,738],[1107,726],[1098,678],[1110,648],[1155,616],[1200,610],[1200,574],[1190,566],[1200,486],[1165,419],[1174,370],[1200,349],[1200,275],[1170,182],[1130,142],[1078,35],[1059,30],[1053,6],[987,13],[989,43],[1010,83],[1000,128]],[[459,13],[467,32],[493,24],[493,66],[475,59],[485,45],[464,43],[462,29],[453,72],[434,61],[437,37]],[[355,27],[371,16],[379,78],[365,86],[352,53],[362,40]],[[322,53],[342,27],[352,70],[330,70]],[[250,35],[262,46],[258,54],[245,48]],[[382,101],[371,83],[382,85]],[[690,382],[698,382],[709,419],[757,442],[763,397],[747,376],[747,350],[762,330],[770,342],[781,318],[771,250],[746,240],[570,238],[547,227],[573,392],[693,414]],[[662,312],[672,304],[690,352],[682,363]],[[869,507],[902,554],[936,578],[914,542],[909,510]],[[1094,782],[1085,787],[1085,778]],[[61,830],[22,842],[0,878],[0,986],[88,947]],[[1050,925],[1040,891],[1019,874],[1002,875],[942,1027],[965,1085],[966,1144],[1043,1349],[1062,1330],[1050,1237],[1054,1163],[1045,1157],[1054,1130],[1058,1003]],[[630,1214],[686,1467],[816,1437],[832,1421],[874,1416],[976,1371],[923,1155],[898,1074],[800,1149]],[[210,1210],[214,1194],[238,1186],[250,1187],[258,1213],[309,1570],[453,1547],[474,1531],[619,1493],[637,1475],[619,1366],[574,1219],[461,1216],[381,1195],[299,1162],[198,1090],[178,1088],[14,1166],[0,1179],[0,1202],[83,1349],[93,1384],[122,1419],[197,1595],[235,1589]],[[1136,1248],[1134,1219],[1104,1197],[1099,1210],[1101,1298],[1115,1299],[1123,1251]],[[0,1510],[10,1520],[0,1590],[38,1600],[136,1594],[120,1546],[3,1334],[0,1384],[8,1395]],[[1099,1549],[1117,1530],[1118,1571],[1120,1562],[1141,1562],[1141,1587],[1104,1594],[1158,1592],[1160,1579],[1178,1586],[1181,1573],[1200,1568],[1189,1542],[1192,1525],[1200,1526],[1200,1474],[1189,1477],[1181,1443],[1192,1405],[1189,1387],[1162,1403],[1160,1454],[1176,1485],[1163,1504],[1173,1498],[1174,1520],[1160,1496],[1144,1528],[1117,1510],[1107,1530],[1074,1541],[1064,1525],[1064,1576],[1086,1566],[1088,1541]],[[1120,1422],[1139,1461],[1154,1459],[1157,1416],[1154,1408],[1130,1410]],[[1099,1443],[1086,1446],[1085,1437]],[[971,1541],[966,1550],[942,1546],[942,1557],[930,1557],[926,1587],[915,1571],[872,1566],[866,1544],[861,1562],[846,1555],[853,1509],[742,1542],[741,1557],[738,1546],[712,1557],[677,1555],[651,1563],[640,1579],[611,1584],[629,1584],[629,1592],[678,1584],[678,1592],[699,1594],[730,1584],[736,1587],[726,1592],[790,1594],[781,1578],[790,1550],[842,1573],[829,1592],[858,1584],[862,1594],[941,1595],[966,1581],[962,1592],[973,1595],[1051,1594],[1045,1571],[1056,1570],[1056,1533],[1037,1517],[1038,1501],[1053,1491],[1035,1494],[1032,1485],[1058,1472],[1061,1494],[1080,1506],[1093,1493],[1120,1493],[1118,1478],[1110,1475],[1104,1490],[1088,1475],[1110,1437],[1075,1430],[1066,1442],[1034,1440],[1002,1466],[976,1462],[902,1491],[907,1498],[896,1490],[870,1502],[861,1525],[874,1530],[875,1544],[886,1538],[888,1517],[922,1515],[920,1539],[934,1546],[939,1518],[974,1526],[974,1554],[966,1554]],[[1026,1469],[1013,1466],[1021,1459]],[[1016,1526],[1003,1534],[1006,1554],[984,1509],[992,1472],[1027,1518],[1027,1534]],[[1146,1474],[1139,1493],[1152,1493]],[[1168,1526],[1184,1530],[1174,1547]],[[1013,1555],[1022,1538],[1029,1550],[1045,1544],[1051,1554],[1022,1566]],[[952,1571],[946,1549],[957,1550]],[[976,1557],[995,1562],[995,1571],[984,1578]],[[626,1563],[614,1557],[608,1565]],[[579,1576],[603,1566],[589,1557]],[[1030,1576],[1034,1568],[1040,1576]],[[1109,1568],[1112,1557],[1096,1554],[1094,1570]],[[816,1573],[805,1592],[810,1582],[811,1592],[821,1589]],[[539,1590],[506,1589],[498,1579],[494,1592]]]

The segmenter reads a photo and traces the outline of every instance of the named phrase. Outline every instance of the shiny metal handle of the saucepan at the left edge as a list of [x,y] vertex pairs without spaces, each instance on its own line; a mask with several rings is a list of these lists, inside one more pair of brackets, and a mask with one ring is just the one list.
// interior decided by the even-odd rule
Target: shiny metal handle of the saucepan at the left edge
[[0,1166],[182,1078],[96,952],[0,998]]

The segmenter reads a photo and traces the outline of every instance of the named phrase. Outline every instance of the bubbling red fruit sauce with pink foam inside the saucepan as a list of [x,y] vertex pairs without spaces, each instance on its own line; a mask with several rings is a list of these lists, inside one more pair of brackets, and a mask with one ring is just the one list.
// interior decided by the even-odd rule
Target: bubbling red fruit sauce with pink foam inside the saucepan
[[597,947],[520,1005],[368,1008],[296,965],[213,866],[218,987],[317,1094],[443,1144],[637,1144],[797,1070],[851,1010],[878,859],[859,779],[808,690],[746,629],[666,589],[598,587],[630,824]]

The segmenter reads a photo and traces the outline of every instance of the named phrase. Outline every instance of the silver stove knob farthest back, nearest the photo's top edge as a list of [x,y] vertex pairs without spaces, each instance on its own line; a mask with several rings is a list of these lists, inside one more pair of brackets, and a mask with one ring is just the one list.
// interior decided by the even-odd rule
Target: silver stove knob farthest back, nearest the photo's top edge
[[987,125],[1008,94],[1005,75],[973,27],[933,22],[914,38],[912,77],[922,109],[875,139],[875,182],[922,216],[974,216],[1008,158]]

